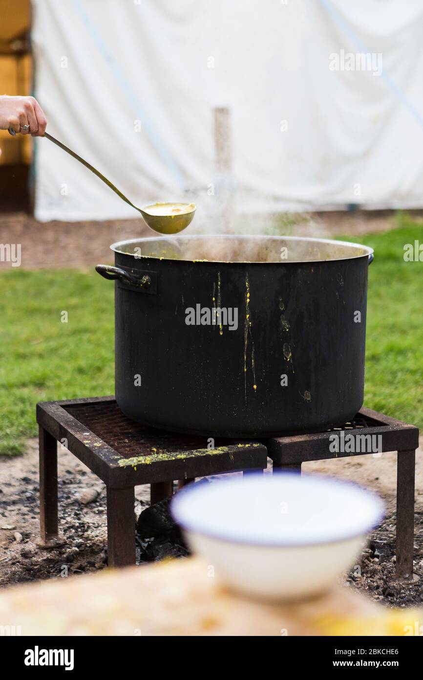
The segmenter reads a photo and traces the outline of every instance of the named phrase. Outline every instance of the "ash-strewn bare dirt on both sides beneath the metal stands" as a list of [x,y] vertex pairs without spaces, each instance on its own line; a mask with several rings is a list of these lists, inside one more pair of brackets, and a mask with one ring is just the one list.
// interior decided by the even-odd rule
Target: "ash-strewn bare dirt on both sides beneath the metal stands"
[[[423,440],[421,441],[421,445]],[[370,537],[369,547],[346,578],[346,587],[365,590],[388,605],[408,607],[423,601],[423,458],[416,469],[415,573],[413,583],[394,575],[396,454],[356,456],[304,464],[304,471],[356,481],[385,500],[386,519]],[[106,489],[88,468],[67,450],[58,453],[59,522],[66,544],[54,550],[37,548],[39,533],[38,445],[29,440],[18,458],[0,458],[0,586],[97,571],[107,564]],[[84,505],[87,490],[98,491]],[[149,505],[149,487],[135,489],[135,516]],[[139,555],[139,554],[138,554]]]

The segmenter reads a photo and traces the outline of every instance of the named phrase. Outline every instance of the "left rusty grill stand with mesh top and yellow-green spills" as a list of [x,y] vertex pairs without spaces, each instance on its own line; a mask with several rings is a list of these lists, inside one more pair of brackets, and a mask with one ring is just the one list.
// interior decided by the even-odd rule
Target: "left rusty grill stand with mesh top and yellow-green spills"
[[110,566],[135,562],[134,487],[151,485],[151,503],[196,477],[267,467],[258,441],[215,441],[174,435],[136,423],[113,396],[37,404],[39,424],[40,547],[64,542],[58,534],[57,442],[107,486],[107,544]]

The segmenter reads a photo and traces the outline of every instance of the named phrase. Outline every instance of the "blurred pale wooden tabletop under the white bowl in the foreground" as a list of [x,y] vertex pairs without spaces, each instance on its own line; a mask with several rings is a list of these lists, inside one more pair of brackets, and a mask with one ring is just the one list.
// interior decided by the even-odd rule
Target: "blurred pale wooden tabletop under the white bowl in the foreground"
[[[84,603],[84,605],[82,605]],[[386,610],[334,586],[291,605],[225,590],[196,558],[106,570],[0,594],[0,624],[22,635],[404,635],[422,612]]]

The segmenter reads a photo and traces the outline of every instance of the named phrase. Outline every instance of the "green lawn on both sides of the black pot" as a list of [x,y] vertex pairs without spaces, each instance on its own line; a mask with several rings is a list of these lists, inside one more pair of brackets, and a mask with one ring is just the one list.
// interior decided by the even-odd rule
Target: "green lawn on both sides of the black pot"
[[[403,260],[423,226],[397,220],[394,231],[346,237],[375,248],[365,405],[423,426],[423,262]],[[113,374],[113,284],[94,269],[0,275],[0,454],[36,435],[37,401],[113,394]]]

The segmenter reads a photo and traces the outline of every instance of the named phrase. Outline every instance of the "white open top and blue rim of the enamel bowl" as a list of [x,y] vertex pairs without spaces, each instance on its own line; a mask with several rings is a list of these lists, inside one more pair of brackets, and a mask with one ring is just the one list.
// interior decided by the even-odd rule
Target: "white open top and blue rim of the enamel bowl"
[[[291,534],[283,524],[274,528],[267,526],[266,520],[272,517],[270,513],[262,517],[260,526],[246,526],[248,517],[243,522],[242,509],[237,509],[232,500],[239,504],[243,497],[246,502],[254,505],[261,497],[261,502],[267,503],[276,491],[294,494],[294,505],[299,503],[299,494],[306,493],[305,498],[316,494],[316,500],[326,506],[325,512],[320,519],[318,509],[314,513],[306,513],[304,524],[293,526]],[[238,499],[235,499],[236,494]],[[227,501],[228,511],[221,517],[217,517],[221,512],[221,507],[217,505],[219,496],[220,503],[222,500]],[[236,509],[236,517],[231,515],[232,507]],[[245,507],[244,505],[243,508]],[[384,503],[373,492],[333,477],[300,476],[295,473],[252,474],[249,477],[234,477],[208,484],[191,484],[172,498],[170,511],[183,530],[218,541],[261,547],[306,547],[339,543],[367,534],[384,517]],[[303,508],[298,505],[294,511],[301,514]],[[333,513],[339,513],[339,516],[336,517]],[[297,535],[298,528],[300,535]]]

